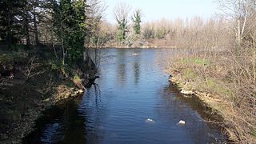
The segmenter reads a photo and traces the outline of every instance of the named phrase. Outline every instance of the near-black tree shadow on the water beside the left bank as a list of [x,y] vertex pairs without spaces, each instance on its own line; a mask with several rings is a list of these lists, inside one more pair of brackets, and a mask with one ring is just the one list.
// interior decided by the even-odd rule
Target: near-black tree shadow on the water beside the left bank
[[46,110],[37,120],[36,130],[23,139],[23,143],[86,143],[86,117],[81,117],[75,98]]

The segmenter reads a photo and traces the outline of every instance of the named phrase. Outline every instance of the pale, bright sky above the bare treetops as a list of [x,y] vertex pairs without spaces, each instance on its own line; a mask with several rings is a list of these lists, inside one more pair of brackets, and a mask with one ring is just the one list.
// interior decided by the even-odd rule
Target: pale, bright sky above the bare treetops
[[106,20],[115,23],[114,7],[118,2],[125,2],[133,12],[142,10],[142,22],[151,22],[162,18],[174,20],[177,18],[193,18],[201,16],[210,18],[218,9],[213,0],[103,0],[106,3]]

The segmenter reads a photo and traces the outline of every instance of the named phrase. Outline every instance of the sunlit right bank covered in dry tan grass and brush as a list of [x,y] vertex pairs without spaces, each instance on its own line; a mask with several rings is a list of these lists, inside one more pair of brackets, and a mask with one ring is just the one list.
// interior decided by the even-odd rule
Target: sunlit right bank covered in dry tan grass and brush
[[[246,59],[244,59],[246,58]],[[229,52],[176,54],[166,71],[183,94],[200,98],[223,117],[218,124],[230,140],[256,142],[255,81],[250,52],[239,56]],[[193,97],[192,97],[193,98]]]

